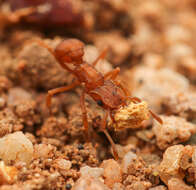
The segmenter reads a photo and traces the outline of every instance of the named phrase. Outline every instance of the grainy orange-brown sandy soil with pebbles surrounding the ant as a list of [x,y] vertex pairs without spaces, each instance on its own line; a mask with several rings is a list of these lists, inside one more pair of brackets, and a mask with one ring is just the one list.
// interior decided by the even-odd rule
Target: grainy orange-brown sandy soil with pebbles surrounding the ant
[[[196,189],[195,32],[194,0],[0,0],[0,190]],[[86,141],[82,87],[46,106],[47,91],[74,76],[38,41],[54,50],[69,38],[84,42],[88,63],[108,47],[96,69],[120,67],[142,99],[108,119],[119,160],[88,96]]]

